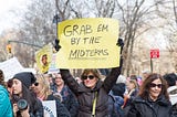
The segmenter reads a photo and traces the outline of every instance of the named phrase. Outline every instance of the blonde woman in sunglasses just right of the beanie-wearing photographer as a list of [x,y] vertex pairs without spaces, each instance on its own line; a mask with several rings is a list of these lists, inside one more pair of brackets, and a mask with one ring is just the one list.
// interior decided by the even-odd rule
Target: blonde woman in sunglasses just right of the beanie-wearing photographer
[[37,82],[32,84],[31,88],[40,100],[55,100],[56,116],[71,117],[69,110],[61,104],[61,97],[54,96],[50,89],[49,81],[42,74],[35,74]]

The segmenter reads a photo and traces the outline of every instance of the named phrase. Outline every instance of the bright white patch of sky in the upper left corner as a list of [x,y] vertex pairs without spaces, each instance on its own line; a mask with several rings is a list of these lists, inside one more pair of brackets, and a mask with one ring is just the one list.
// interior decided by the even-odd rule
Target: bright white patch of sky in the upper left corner
[[21,12],[27,7],[28,0],[0,0],[0,33],[3,30],[13,28],[20,20],[20,15],[14,12]]

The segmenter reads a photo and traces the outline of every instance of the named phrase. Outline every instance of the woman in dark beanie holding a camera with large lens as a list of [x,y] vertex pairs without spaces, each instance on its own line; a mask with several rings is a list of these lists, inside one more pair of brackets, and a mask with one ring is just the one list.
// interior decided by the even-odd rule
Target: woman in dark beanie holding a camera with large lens
[[43,117],[42,103],[30,91],[35,82],[31,72],[21,72],[12,77],[12,107],[14,117]]

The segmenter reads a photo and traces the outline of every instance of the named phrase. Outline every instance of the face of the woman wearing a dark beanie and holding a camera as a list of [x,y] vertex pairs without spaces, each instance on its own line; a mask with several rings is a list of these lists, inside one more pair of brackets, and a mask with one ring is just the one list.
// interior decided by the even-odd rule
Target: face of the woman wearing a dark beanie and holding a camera
[[13,94],[22,94],[22,83],[21,81],[14,78],[13,81],[13,84],[12,84],[12,91],[13,91]]

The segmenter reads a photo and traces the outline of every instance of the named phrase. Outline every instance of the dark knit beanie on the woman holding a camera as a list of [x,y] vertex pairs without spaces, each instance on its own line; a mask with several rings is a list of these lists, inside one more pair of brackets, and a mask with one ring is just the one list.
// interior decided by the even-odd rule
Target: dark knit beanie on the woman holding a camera
[[21,81],[21,83],[27,86],[28,88],[35,83],[35,77],[31,72],[21,72],[13,76],[13,78],[17,78]]

